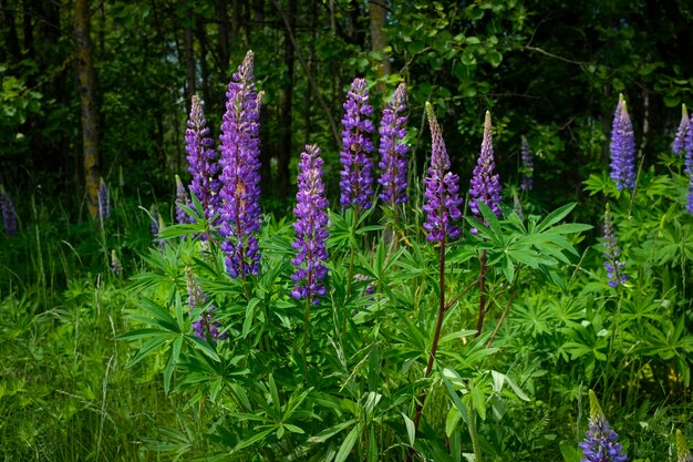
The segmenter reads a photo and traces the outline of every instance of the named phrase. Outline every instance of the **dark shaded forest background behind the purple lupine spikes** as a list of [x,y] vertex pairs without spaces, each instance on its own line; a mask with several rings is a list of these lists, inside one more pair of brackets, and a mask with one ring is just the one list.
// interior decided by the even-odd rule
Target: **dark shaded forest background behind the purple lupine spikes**
[[[366,78],[376,109],[407,84],[418,172],[426,100],[445,114],[461,172],[470,172],[489,110],[504,184],[519,182],[526,136],[544,206],[585,198],[619,93],[647,167],[693,88],[693,6],[683,0],[2,0],[0,14],[0,183],[19,197],[59,197],[81,218],[95,213],[100,176],[127,194],[170,197],[173,175],[186,174],[192,95],[217,137],[226,85],[249,49],[265,92],[268,209],[286,208],[306,143],[335,165],[354,76]],[[335,185],[335,168],[328,175]]]

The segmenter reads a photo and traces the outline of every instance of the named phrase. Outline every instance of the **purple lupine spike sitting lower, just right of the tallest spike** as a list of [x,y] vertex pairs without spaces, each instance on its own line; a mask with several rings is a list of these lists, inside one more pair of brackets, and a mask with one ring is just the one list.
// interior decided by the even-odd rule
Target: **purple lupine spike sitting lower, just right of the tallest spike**
[[299,191],[296,194],[296,240],[292,244],[298,254],[291,264],[297,269],[291,276],[296,283],[291,296],[300,300],[309,299],[318,305],[319,297],[327,295],[322,279],[328,274],[324,261],[328,259],[325,239],[328,233],[328,201],[324,198],[324,183],[322,182],[322,165],[318,145],[307,145],[299,161]]

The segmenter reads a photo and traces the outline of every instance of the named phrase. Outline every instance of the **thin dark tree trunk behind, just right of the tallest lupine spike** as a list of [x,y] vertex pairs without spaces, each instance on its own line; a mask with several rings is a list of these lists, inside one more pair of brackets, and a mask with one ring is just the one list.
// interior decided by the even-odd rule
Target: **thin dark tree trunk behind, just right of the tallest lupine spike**
[[291,141],[292,141],[292,126],[291,126],[291,107],[293,105],[293,61],[294,50],[292,34],[296,30],[296,0],[289,0],[289,10],[287,11],[287,19],[289,20],[288,27],[285,29],[283,38],[283,52],[285,52],[285,66],[287,68],[287,83],[281,91],[281,115],[279,119],[279,126],[281,127],[281,143],[278,150],[277,166],[279,178],[279,195],[287,197],[289,194],[289,162],[291,161]]

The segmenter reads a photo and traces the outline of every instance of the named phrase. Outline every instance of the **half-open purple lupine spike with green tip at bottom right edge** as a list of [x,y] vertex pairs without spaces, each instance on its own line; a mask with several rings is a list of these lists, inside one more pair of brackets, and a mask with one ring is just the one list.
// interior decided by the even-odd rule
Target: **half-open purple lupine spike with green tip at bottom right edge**
[[589,429],[585,434],[585,441],[580,443],[585,455],[580,462],[625,462],[628,456],[621,453],[623,446],[618,443],[619,435],[609,427],[592,390],[589,391]]

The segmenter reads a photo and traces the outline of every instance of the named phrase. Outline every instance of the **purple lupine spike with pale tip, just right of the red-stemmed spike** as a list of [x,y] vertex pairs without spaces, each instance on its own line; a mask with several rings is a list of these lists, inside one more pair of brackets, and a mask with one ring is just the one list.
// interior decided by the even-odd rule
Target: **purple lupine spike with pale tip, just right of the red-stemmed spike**
[[490,136],[490,112],[486,111],[484,120],[484,140],[482,141],[482,152],[474,167],[469,187],[469,208],[477,218],[480,217],[478,202],[484,204],[496,214],[503,215],[500,207],[500,176],[495,173],[496,162],[494,161],[494,142]]

